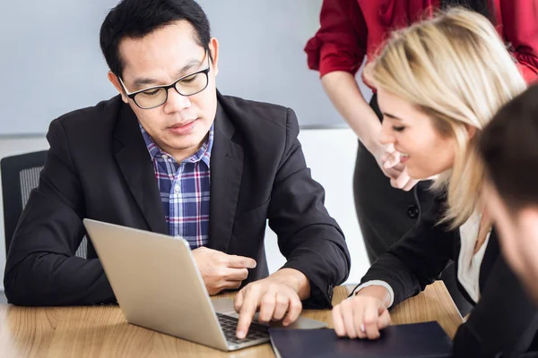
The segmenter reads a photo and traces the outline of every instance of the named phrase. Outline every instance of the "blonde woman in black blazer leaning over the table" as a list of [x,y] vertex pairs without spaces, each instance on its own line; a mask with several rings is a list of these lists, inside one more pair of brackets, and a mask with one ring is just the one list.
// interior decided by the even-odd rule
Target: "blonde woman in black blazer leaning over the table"
[[500,256],[482,210],[476,149],[483,126],[525,90],[515,61],[490,21],[456,9],[395,32],[366,75],[384,117],[380,141],[402,153],[412,178],[435,177],[437,198],[334,307],[336,334],[379,337],[390,324],[387,310],[419,294],[454,260],[459,288],[475,305],[456,333],[455,354],[534,350],[538,311]]

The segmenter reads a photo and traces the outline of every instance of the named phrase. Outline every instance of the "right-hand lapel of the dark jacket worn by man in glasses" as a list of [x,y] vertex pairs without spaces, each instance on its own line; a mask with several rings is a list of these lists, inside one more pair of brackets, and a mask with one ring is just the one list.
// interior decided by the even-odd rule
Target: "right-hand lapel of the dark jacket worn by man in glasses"
[[225,99],[220,94],[218,98],[211,153],[209,247],[227,252],[243,174],[243,149],[232,141],[235,127],[221,107]]

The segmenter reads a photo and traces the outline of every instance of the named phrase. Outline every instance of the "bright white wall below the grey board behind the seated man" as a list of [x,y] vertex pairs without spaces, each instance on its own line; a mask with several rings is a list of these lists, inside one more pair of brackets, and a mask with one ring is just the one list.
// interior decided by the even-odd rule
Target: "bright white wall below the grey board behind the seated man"
[[[351,252],[349,283],[355,283],[369,268],[355,215],[352,175],[357,150],[357,138],[349,129],[304,130],[299,134],[312,176],[325,187],[325,205],[343,229]],[[0,158],[25,152],[48,149],[45,137],[0,138]],[[0,201],[2,195],[0,193]],[[4,207],[0,205],[0,289],[4,289],[5,266]],[[276,235],[267,229],[266,251],[269,269],[280,268],[284,259],[276,244]]]

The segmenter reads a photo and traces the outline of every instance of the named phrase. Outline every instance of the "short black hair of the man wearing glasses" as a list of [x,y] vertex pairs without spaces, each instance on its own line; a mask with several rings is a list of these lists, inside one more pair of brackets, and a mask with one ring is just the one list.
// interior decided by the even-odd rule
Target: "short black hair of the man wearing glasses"
[[[110,71],[117,76],[123,72],[125,64],[118,51],[123,38],[143,38],[180,20],[193,26],[195,41],[209,53],[209,21],[194,0],[121,0],[110,10],[100,28],[100,47]],[[209,55],[211,58],[211,53]]]

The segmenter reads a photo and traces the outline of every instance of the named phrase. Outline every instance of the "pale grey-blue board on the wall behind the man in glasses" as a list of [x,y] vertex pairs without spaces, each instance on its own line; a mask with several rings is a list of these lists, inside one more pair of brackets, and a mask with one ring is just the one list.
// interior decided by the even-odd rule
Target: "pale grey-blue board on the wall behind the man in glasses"
[[[223,94],[293,108],[302,128],[345,126],[303,51],[322,0],[200,0],[221,44]],[[59,115],[117,94],[99,30],[117,0],[4,2],[0,135],[43,134]],[[362,84],[363,90],[366,90]]]

